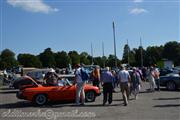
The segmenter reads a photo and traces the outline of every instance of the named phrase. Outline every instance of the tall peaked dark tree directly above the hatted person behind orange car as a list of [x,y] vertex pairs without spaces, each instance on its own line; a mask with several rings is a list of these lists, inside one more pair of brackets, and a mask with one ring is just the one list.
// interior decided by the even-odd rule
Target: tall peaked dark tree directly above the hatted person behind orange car
[[54,57],[54,53],[51,48],[47,48],[44,52],[39,54],[39,59],[43,65],[43,67],[55,67],[56,61]]

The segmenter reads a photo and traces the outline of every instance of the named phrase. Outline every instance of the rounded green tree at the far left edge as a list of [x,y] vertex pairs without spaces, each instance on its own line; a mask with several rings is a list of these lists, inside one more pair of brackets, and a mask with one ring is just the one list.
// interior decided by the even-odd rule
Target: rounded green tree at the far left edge
[[15,59],[15,53],[9,49],[2,51],[0,55],[0,68],[12,68],[18,66],[18,62]]

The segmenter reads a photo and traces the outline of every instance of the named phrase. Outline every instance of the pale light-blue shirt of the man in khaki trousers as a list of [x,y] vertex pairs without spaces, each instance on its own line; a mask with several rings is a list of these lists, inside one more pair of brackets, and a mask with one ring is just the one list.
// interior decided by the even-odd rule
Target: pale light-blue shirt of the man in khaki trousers
[[118,74],[118,79],[120,79],[120,82],[128,82],[129,80],[129,72],[126,70],[121,70]]

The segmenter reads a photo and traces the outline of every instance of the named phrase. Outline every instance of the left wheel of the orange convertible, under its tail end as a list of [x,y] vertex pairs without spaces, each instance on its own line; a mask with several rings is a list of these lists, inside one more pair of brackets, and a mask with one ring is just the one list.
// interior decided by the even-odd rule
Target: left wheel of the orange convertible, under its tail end
[[34,103],[37,105],[44,105],[47,103],[47,95],[38,94],[34,97]]

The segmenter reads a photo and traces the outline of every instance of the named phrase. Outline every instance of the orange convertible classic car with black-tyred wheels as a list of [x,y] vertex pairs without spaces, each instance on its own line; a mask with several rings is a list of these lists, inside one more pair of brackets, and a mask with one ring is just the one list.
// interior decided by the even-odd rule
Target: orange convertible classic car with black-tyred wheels
[[[32,84],[22,86],[16,94],[17,98],[29,100],[37,105],[44,105],[48,101],[75,101],[76,85],[66,78],[60,80],[57,86],[45,86],[30,77],[29,79],[32,80]],[[85,85],[84,90],[87,102],[95,101],[101,94],[98,87],[89,84]]]

